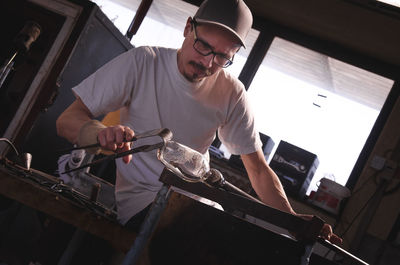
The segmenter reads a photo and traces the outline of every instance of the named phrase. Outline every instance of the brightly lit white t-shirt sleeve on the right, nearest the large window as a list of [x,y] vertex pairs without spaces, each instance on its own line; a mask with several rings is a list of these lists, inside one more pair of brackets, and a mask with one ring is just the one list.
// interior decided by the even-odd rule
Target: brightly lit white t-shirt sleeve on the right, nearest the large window
[[243,90],[230,104],[231,111],[226,123],[218,129],[221,142],[235,155],[257,151],[262,147],[262,143],[246,92]]

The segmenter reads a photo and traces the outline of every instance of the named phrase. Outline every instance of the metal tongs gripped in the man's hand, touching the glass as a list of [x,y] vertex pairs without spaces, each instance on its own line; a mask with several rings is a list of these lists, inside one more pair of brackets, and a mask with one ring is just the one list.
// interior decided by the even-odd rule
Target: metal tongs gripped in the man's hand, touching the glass
[[[103,157],[103,158],[100,158],[100,159],[98,159],[96,161],[93,161],[93,162],[91,162],[89,164],[82,165],[82,166],[79,166],[79,167],[76,167],[76,168],[73,168],[73,169],[70,169],[70,170],[66,170],[66,171],[62,172],[61,174],[66,174],[66,173],[70,173],[70,172],[73,172],[73,171],[77,171],[77,170],[80,170],[82,168],[90,167],[90,166],[93,166],[93,165],[96,165],[96,164],[99,164],[99,163],[103,163],[105,161],[117,159],[119,157],[127,156],[127,155],[130,155],[130,154],[139,153],[139,152],[149,152],[151,150],[155,150],[155,149],[161,148],[161,147],[163,147],[165,145],[165,143],[167,141],[172,139],[172,132],[167,128],[151,130],[151,131],[148,131],[148,132],[144,132],[144,133],[135,135],[134,138],[131,141],[133,142],[133,141],[136,141],[136,140],[141,139],[141,138],[152,137],[152,136],[160,136],[163,141],[159,142],[159,143],[156,143],[156,144],[142,145],[142,146],[133,148],[133,149],[125,151],[125,152],[108,155],[106,157]],[[87,149],[87,148],[93,148],[93,147],[100,147],[100,143],[86,145],[86,146],[80,146],[80,147],[74,147],[72,149],[69,149],[69,151],[78,150],[78,149]]]

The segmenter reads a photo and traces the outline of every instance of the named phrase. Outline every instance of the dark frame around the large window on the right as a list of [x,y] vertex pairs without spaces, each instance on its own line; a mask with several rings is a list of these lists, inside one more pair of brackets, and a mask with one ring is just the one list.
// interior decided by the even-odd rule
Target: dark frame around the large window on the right
[[394,81],[394,84],[385,100],[385,103],[382,106],[381,111],[379,112],[379,115],[345,185],[347,188],[352,190],[361,176],[361,173],[366,166],[367,160],[376,145],[386,121],[400,96],[400,74],[398,67],[373,58],[367,54],[352,50],[351,48],[344,47],[343,45],[333,41],[323,40],[316,36],[311,36],[305,32],[300,32],[282,25],[278,25],[266,19],[255,17],[253,27],[254,29],[258,30],[260,34],[239,75],[239,79],[243,82],[246,90],[249,89],[250,84],[259,66],[262,64],[264,57],[267,54],[268,49],[275,37],[293,42],[315,52],[319,52],[336,60],[340,60]]

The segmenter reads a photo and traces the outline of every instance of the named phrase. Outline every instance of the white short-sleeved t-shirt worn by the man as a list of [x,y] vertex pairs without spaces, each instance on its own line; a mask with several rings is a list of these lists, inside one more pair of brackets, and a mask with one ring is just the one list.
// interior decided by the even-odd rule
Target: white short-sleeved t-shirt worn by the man
[[[135,133],[168,128],[173,140],[206,154],[218,129],[233,154],[261,147],[243,84],[221,70],[192,83],[179,72],[177,50],[133,48],[96,71],[73,91],[97,117],[121,109],[121,124]],[[134,145],[159,142],[143,139]],[[164,168],[156,151],[133,155],[129,164],[117,159],[116,201],[125,224],[150,204],[162,183]]]

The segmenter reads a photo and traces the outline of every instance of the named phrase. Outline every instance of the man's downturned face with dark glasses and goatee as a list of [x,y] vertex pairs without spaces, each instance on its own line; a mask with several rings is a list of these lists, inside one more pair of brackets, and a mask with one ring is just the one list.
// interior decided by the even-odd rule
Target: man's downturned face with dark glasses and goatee
[[[203,78],[213,75],[220,71],[222,67],[216,64],[215,54],[219,58],[233,58],[239,50],[238,40],[229,31],[215,25],[186,23],[184,37],[185,40],[178,52],[179,71],[190,82],[198,82]],[[209,55],[202,55],[193,45],[197,39],[196,47],[208,47]],[[201,51],[201,50],[200,50]],[[204,53],[203,53],[204,54]]]

